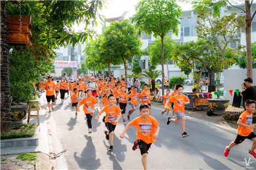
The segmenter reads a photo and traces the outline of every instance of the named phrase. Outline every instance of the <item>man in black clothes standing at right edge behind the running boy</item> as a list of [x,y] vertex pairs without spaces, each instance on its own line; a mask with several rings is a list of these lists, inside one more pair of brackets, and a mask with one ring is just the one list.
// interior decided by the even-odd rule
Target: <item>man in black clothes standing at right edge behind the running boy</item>
[[245,108],[245,101],[247,99],[256,100],[256,86],[253,85],[253,79],[246,78],[243,81],[245,83],[242,83],[242,92],[241,96],[243,96],[243,107]]

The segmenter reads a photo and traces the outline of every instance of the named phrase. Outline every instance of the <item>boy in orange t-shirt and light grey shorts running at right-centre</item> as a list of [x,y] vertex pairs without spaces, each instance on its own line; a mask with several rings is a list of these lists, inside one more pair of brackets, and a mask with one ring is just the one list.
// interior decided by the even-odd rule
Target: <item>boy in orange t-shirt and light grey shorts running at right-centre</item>
[[[170,122],[175,122],[176,124],[179,122],[179,120],[181,120],[181,130],[182,130],[182,137],[188,137],[189,134],[187,134],[187,132],[185,132],[185,122],[186,122],[186,118],[185,118],[185,104],[189,104],[190,101],[188,99],[188,96],[183,95],[183,85],[182,84],[176,84],[175,88],[177,90],[177,95],[176,96],[172,96],[168,101],[171,101],[172,103],[174,103],[174,112],[176,114],[176,118],[168,118],[167,120],[167,125],[170,124]],[[166,102],[166,109],[168,102]]]

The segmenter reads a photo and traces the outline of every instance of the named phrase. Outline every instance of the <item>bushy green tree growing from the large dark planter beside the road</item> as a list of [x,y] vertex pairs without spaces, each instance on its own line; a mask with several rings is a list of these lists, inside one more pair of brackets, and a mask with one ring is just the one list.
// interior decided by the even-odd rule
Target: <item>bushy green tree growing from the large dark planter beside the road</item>
[[177,62],[177,66],[182,69],[185,67],[192,69],[193,63],[201,62],[202,67],[196,74],[193,73],[196,78],[196,84],[194,85],[193,92],[200,92],[199,81],[203,70],[212,64],[214,61],[214,53],[212,52],[212,46],[208,41],[199,39],[195,41],[184,42],[183,44],[176,44],[175,50],[172,53],[172,60]]

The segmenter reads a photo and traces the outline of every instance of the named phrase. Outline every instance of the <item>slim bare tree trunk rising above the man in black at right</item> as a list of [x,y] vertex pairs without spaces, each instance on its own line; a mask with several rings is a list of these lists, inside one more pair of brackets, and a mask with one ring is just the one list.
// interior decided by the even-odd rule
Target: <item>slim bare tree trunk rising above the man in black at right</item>
[[246,56],[247,56],[247,78],[253,79],[253,57],[251,56],[251,8],[250,1],[245,0],[245,11],[248,15],[245,18]]

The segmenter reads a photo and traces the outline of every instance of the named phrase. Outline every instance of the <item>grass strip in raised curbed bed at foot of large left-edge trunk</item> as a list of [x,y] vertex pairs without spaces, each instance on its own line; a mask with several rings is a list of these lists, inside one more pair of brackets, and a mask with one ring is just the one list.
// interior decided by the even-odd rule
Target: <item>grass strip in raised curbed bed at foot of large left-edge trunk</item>
[[0,132],[0,139],[13,139],[13,138],[28,138],[32,137],[36,131],[36,124],[28,123],[24,125],[25,128],[22,131],[11,131],[10,133]]

